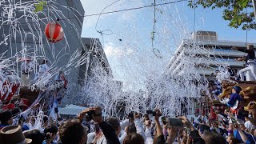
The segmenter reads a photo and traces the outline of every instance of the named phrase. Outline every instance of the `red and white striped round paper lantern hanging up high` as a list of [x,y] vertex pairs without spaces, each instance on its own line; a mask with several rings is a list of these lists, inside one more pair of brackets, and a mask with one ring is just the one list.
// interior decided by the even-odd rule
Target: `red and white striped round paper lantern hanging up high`
[[62,29],[62,26],[59,23],[49,22],[46,25],[45,34],[46,34],[46,38],[50,42],[58,42],[62,40],[64,36],[64,30]]

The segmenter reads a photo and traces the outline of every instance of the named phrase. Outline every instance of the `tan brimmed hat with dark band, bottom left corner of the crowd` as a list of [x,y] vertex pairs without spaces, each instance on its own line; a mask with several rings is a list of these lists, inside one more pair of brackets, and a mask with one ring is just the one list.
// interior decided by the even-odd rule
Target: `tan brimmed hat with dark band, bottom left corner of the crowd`
[[32,142],[32,139],[25,138],[22,134],[21,126],[6,126],[0,131],[2,144],[27,144]]

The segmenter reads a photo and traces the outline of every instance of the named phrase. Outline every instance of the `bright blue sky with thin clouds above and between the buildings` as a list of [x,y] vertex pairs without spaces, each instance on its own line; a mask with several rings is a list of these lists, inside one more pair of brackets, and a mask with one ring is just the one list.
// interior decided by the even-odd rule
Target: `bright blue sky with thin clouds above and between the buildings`
[[[81,2],[86,14],[98,14],[114,0],[97,2],[81,0]],[[104,12],[146,6],[152,2],[154,1],[120,0],[106,8]],[[172,2],[172,0],[157,2]],[[95,30],[98,16],[84,19],[82,37],[100,38],[114,71],[114,78],[124,81],[125,85],[137,82],[135,85],[138,86],[152,74],[162,74],[179,42],[183,38],[189,38],[190,32],[193,32],[194,10],[187,6],[187,2],[158,6],[158,9],[162,10],[163,14],[157,13],[154,45],[160,50],[160,55],[163,57],[161,59],[156,58],[151,47],[153,7],[102,15],[96,29],[105,31],[103,37]],[[195,30],[216,31],[218,40],[246,41],[246,31],[227,26],[228,22],[222,19],[222,10],[198,8],[195,20]],[[248,31],[249,42],[256,42],[255,34],[255,30]],[[119,39],[122,39],[122,42]]]

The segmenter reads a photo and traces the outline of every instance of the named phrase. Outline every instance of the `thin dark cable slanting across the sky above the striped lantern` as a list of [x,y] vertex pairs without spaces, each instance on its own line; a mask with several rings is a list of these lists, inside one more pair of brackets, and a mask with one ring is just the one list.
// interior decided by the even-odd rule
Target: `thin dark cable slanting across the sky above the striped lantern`
[[[59,18],[59,20],[63,21],[63,20],[74,19],[74,18],[93,17],[93,16],[97,16],[97,15],[101,15],[101,14],[114,14],[114,13],[119,13],[119,12],[123,12],[123,11],[140,10],[140,9],[144,9],[144,8],[147,8],[147,7],[164,6],[164,5],[174,4],[174,3],[178,3],[178,2],[185,2],[185,1],[188,1],[188,0],[178,0],[178,1],[174,1],[174,2],[165,2],[165,3],[159,3],[159,4],[151,4],[151,5],[147,5],[147,6],[139,6],[139,7],[134,7],[134,8],[130,8],[130,9],[114,10],[114,11],[98,13],[98,14],[81,15],[81,16],[72,17],[72,18]],[[42,22],[42,21],[38,21],[38,22]],[[27,24],[27,23],[36,23],[36,22],[26,22],[26,23],[17,23],[17,24],[22,25],[22,24]],[[3,25],[5,25],[5,24],[3,24]],[[6,25],[14,25],[14,24],[6,24]]]

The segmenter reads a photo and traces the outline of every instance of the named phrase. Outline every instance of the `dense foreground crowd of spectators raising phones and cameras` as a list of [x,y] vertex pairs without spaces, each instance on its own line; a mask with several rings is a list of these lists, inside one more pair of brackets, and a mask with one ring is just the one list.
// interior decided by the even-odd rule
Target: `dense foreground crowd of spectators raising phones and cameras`
[[41,129],[31,128],[35,124],[31,121],[33,117],[18,118],[18,125],[13,125],[18,110],[5,110],[0,113],[0,143],[250,144],[256,143],[256,103],[250,105],[245,122],[228,109],[223,114],[216,112],[218,119],[214,121],[206,115],[190,120],[186,116],[168,118],[160,110],[153,115],[133,112],[122,121],[104,120],[101,108],[91,107],[72,119],[52,121],[44,116]]

